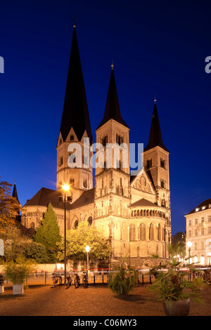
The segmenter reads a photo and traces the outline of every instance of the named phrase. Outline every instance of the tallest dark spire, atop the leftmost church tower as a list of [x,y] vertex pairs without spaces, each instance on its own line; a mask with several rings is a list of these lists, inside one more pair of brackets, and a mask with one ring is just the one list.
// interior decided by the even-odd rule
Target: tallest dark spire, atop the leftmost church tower
[[75,22],[73,25],[72,47],[70,52],[63,116],[60,124],[60,133],[63,137],[63,141],[68,137],[71,127],[74,129],[78,140],[82,139],[84,131],[87,130],[90,143],[92,143],[89,110],[79,57]]

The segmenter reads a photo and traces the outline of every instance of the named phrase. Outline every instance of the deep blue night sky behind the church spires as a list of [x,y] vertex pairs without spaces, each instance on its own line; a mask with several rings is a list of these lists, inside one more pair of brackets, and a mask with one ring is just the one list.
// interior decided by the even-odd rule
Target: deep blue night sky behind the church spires
[[113,59],[130,142],[148,143],[157,98],[170,150],[172,233],[210,194],[210,1],[4,1],[1,47],[1,180],[23,205],[56,189],[56,143],[72,43],[72,15],[91,128],[103,118]]

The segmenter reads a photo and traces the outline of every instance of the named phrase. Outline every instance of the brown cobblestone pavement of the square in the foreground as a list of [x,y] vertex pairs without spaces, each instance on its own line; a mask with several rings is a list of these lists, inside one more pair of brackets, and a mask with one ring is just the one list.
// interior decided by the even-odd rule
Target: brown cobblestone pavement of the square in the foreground
[[[190,316],[211,315],[211,285],[203,292],[204,305],[191,302]],[[0,295],[0,316],[164,316],[162,303],[148,286],[137,286],[129,296],[115,296],[106,284],[51,288],[30,285],[21,296],[11,286]]]

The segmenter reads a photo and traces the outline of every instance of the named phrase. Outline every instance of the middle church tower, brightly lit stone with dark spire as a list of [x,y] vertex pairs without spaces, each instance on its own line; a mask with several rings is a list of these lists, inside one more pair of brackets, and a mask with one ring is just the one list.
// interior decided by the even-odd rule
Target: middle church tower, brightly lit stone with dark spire
[[96,129],[96,143],[100,145],[96,154],[94,218],[110,239],[114,260],[122,257],[122,223],[129,216],[131,199],[129,127],[120,113],[113,65],[104,117]]

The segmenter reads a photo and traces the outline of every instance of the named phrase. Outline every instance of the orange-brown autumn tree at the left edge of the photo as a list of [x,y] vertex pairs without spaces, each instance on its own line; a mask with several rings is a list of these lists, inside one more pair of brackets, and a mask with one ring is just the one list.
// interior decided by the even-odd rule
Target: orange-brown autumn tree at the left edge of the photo
[[20,204],[11,196],[11,186],[6,181],[0,181],[0,232],[15,225],[15,218],[20,211]]

